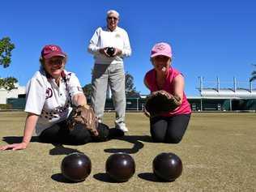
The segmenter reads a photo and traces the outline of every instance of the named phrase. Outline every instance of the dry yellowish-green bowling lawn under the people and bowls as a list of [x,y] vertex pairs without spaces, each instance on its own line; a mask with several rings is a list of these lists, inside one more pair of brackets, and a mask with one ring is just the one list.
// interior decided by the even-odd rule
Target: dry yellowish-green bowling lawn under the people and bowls
[[[26,114],[0,113],[0,144],[19,141]],[[113,126],[114,113],[105,113]],[[194,113],[178,144],[151,143],[148,119],[127,113],[129,132],[122,139],[80,146],[54,147],[30,143],[23,151],[0,151],[0,191],[254,191],[256,189],[256,113]],[[82,151],[92,160],[86,181],[66,183],[60,164],[71,151]],[[134,157],[136,172],[130,181],[109,182],[105,160],[117,151]],[[181,157],[183,172],[174,182],[159,182],[151,162],[160,152]]]

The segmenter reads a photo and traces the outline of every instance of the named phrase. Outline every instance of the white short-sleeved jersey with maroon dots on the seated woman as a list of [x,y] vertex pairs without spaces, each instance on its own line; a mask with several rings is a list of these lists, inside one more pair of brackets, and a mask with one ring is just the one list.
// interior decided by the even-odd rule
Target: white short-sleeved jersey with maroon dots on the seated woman
[[45,70],[36,71],[27,84],[25,112],[39,115],[37,135],[69,116],[71,100],[77,93],[83,93],[83,89],[74,73],[63,70],[58,87]]

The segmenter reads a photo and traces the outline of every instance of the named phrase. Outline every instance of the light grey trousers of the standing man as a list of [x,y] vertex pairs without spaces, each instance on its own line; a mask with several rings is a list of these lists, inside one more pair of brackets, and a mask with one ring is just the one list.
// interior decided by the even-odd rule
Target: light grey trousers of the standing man
[[92,108],[102,121],[105,109],[107,87],[112,92],[116,123],[125,122],[126,75],[123,64],[95,64],[92,71]]

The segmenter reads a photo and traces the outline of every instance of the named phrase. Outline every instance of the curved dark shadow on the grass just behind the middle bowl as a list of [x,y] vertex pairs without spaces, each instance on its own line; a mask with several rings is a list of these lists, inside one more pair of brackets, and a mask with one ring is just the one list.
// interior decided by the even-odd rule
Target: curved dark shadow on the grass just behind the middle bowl
[[124,135],[116,139],[133,143],[134,146],[132,148],[108,148],[104,150],[105,152],[109,152],[109,153],[125,152],[128,154],[134,154],[144,147],[144,144],[141,141],[152,143],[151,136],[148,136],[148,135],[143,135],[143,136]]

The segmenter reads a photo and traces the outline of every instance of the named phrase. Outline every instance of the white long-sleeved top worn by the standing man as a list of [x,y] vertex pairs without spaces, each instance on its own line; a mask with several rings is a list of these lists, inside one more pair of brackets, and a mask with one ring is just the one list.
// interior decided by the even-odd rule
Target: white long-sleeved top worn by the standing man
[[[100,53],[100,48],[115,47],[122,50],[122,54],[108,58]],[[117,27],[113,32],[108,28],[97,28],[88,45],[88,52],[94,54],[96,64],[123,63],[124,57],[131,54],[129,36],[125,29]]]

